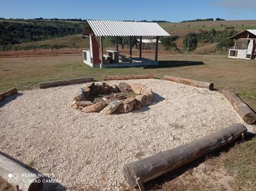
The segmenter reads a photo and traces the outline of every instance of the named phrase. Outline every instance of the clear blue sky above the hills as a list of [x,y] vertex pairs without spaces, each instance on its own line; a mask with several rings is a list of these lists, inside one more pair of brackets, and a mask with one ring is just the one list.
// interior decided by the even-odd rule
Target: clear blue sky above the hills
[[0,0],[0,17],[168,20],[196,18],[256,19],[256,0],[101,1]]

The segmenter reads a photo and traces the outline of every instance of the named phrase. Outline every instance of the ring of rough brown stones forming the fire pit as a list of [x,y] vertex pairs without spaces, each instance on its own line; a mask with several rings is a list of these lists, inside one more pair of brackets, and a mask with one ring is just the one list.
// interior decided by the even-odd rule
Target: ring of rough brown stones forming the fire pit
[[[125,93],[133,91],[136,96],[128,97]],[[115,93],[123,92],[123,95]],[[103,94],[102,101],[88,101],[91,97]],[[127,113],[132,110],[141,109],[143,106],[151,104],[153,100],[152,89],[140,84],[127,84],[124,82],[118,85],[109,85],[101,82],[95,84],[91,82],[75,91],[70,101],[70,106],[86,113],[100,112],[102,114]]]

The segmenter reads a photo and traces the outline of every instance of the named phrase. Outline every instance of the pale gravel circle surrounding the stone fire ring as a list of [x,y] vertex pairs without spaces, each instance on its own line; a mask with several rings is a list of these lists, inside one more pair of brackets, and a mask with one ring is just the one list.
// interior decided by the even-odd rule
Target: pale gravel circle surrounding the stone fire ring
[[1,151],[24,163],[33,161],[34,169],[68,190],[122,190],[122,166],[137,160],[137,153],[147,157],[234,123],[256,131],[219,92],[157,79],[124,82],[151,87],[155,104],[102,115],[68,106],[83,84],[20,91],[16,99],[0,103]]

